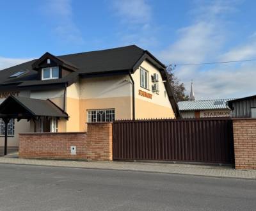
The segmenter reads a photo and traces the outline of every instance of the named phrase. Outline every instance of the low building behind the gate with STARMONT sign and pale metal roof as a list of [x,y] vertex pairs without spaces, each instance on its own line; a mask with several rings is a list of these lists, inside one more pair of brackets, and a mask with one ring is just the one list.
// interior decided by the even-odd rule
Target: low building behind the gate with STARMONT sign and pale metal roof
[[182,118],[227,117],[231,113],[228,100],[232,99],[180,101],[178,107]]

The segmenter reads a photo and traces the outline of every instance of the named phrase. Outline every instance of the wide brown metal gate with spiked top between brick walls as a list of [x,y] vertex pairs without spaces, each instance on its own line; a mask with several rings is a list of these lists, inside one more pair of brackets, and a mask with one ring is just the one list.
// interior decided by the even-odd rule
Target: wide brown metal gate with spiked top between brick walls
[[233,164],[232,120],[114,121],[113,159]]

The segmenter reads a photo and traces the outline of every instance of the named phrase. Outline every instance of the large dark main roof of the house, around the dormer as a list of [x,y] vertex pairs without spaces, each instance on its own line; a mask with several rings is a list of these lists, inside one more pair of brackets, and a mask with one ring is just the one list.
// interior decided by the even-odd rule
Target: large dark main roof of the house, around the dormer
[[[77,71],[68,74],[67,76],[56,80],[38,80],[36,70],[33,70],[31,65],[37,61],[33,59],[20,65],[12,66],[0,71],[0,86],[10,85],[16,86],[33,86],[55,83],[72,83],[77,79],[78,75],[95,74],[100,72],[118,72],[124,70],[132,70],[137,61],[145,54],[146,51],[136,45],[126,47],[118,47],[115,49],[107,49],[102,51],[82,52],[78,54],[68,54],[56,56],[62,61],[76,65]],[[26,74],[17,78],[10,78],[10,75],[19,72],[20,70],[29,70]]]

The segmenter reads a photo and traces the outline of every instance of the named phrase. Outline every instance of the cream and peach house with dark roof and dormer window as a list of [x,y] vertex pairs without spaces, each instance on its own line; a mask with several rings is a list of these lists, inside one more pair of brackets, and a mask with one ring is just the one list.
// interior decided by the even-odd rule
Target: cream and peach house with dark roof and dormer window
[[[0,103],[9,95],[17,96],[10,103],[19,101],[39,116],[33,121],[11,120],[9,146],[19,145],[20,132],[83,132],[87,122],[179,117],[165,66],[136,45],[64,56],[47,52],[6,68],[0,71]],[[53,113],[44,114],[45,107],[38,111],[35,105],[40,101],[31,98],[49,99],[45,105]],[[3,137],[0,141],[3,145]]]

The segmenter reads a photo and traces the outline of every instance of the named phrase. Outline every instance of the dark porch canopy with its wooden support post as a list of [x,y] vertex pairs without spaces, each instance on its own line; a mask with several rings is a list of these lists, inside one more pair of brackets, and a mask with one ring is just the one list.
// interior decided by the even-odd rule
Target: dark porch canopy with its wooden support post
[[0,104],[0,118],[5,124],[4,131],[4,155],[7,154],[8,122],[11,119],[22,119],[36,121],[40,117],[67,118],[65,113],[58,105],[51,100],[38,100],[34,98],[16,97],[10,95]]

